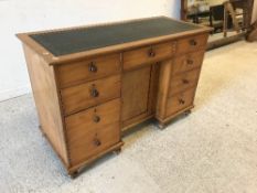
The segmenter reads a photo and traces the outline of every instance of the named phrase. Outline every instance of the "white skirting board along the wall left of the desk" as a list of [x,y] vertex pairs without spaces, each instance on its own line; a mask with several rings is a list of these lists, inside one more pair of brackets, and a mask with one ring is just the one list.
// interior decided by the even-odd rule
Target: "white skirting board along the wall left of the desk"
[[21,87],[13,88],[13,89],[1,90],[0,92],[0,101],[8,100],[8,99],[11,99],[14,97],[19,97],[19,96],[28,94],[28,93],[31,93],[30,85],[21,86]]

